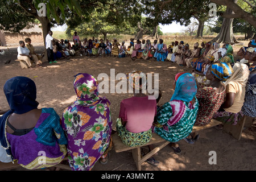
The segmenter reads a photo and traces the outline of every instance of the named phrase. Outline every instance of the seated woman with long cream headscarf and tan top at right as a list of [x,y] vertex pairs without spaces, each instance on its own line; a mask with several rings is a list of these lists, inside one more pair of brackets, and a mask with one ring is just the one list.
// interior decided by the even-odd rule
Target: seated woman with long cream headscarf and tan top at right
[[[249,76],[249,69],[246,64],[237,62],[233,66],[234,73],[224,82],[226,85],[226,97],[213,118],[223,123],[236,125],[243,117],[241,111],[245,98],[245,85]],[[222,126],[220,126],[220,129]]]

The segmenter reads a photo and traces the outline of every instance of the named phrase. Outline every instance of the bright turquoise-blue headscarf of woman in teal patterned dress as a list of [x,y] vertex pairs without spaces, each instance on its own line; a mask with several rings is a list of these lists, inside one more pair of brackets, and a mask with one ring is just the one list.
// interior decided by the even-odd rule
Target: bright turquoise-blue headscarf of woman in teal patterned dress
[[190,102],[196,96],[196,92],[197,86],[195,78],[191,73],[184,73],[176,80],[176,86],[171,101],[181,100],[184,102]]

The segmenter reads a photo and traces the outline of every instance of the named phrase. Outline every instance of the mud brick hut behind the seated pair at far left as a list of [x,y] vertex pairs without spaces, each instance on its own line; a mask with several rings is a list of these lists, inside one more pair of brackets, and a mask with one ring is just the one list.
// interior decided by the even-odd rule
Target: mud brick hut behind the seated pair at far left
[[39,25],[35,24],[34,27],[23,29],[19,33],[0,30],[0,46],[19,46],[20,40],[30,38],[33,46],[43,46],[44,38],[43,31]]

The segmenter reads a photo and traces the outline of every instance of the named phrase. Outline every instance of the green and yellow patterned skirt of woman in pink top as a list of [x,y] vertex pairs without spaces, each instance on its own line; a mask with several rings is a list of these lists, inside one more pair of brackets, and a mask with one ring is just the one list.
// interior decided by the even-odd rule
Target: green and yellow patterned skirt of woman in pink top
[[122,125],[120,118],[117,119],[116,127],[117,133],[119,137],[121,137],[122,142],[129,147],[141,146],[142,144],[148,143],[152,138],[151,129],[141,133],[131,133],[125,128],[125,126]]

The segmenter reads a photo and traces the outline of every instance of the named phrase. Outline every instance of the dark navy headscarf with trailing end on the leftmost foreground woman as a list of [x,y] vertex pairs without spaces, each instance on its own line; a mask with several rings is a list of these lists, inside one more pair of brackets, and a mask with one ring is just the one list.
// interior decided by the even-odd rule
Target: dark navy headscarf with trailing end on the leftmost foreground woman
[[13,159],[11,148],[8,146],[5,138],[6,119],[12,113],[23,114],[38,107],[38,102],[36,102],[36,86],[30,78],[17,76],[6,81],[3,86],[3,92],[5,93],[10,110],[0,118],[0,141],[7,155]]

